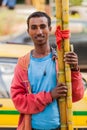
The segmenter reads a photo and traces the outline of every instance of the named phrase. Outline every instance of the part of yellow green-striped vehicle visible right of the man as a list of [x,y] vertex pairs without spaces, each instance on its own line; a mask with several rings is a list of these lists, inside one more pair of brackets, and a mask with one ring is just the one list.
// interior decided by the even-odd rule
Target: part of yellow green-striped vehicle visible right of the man
[[73,103],[73,124],[74,128],[79,130],[87,130],[87,74],[82,73],[85,85],[85,93],[83,99]]

